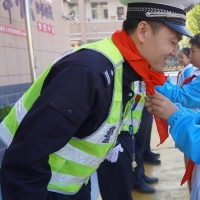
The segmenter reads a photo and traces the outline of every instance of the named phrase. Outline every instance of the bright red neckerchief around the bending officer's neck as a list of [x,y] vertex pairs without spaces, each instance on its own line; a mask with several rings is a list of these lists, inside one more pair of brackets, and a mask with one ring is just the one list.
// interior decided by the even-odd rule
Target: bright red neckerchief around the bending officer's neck
[[[142,77],[142,80],[146,84],[146,94],[154,94],[154,87],[156,85],[163,85],[166,81],[164,73],[159,73],[150,69],[147,60],[140,56],[135,43],[123,29],[113,33],[112,40],[131,67]],[[154,115],[154,118],[161,144],[168,137],[168,125],[166,121],[158,116]]]

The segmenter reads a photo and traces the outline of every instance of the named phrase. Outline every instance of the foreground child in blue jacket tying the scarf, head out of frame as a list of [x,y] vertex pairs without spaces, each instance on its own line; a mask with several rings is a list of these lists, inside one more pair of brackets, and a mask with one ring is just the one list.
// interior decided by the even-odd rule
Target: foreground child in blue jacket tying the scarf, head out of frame
[[173,104],[169,99],[156,93],[146,97],[145,106],[170,125],[169,132],[180,151],[194,163],[190,200],[200,199],[200,112]]

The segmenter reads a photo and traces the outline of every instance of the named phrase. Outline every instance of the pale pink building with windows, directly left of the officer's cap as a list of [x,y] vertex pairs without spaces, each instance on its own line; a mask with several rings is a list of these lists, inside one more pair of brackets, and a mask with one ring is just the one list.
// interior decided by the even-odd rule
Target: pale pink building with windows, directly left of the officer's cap
[[119,0],[71,0],[69,12],[72,46],[111,36],[122,28],[126,7]]

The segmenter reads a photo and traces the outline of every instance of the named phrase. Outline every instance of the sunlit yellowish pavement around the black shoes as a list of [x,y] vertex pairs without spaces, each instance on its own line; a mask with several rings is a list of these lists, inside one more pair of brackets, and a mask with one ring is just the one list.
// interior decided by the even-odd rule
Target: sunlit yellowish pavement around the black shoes
[[[155,153],[160,153],[161,156],[159,159],[161,160],[161,165],[145,164],[145,173],[150,177],[159,178],[159,182],[152,185],[156,188],[156,193],[154,194],[142,194],[133,191],[133,200],[189,200],[190,195],[187,183],[180,186],[185,172],[183,153],[175,148],[174,141],[170,135],[164,144],[157,147],[158,144],[159,137],[154,123],[151,136],[151,149]],[[98,191],[96,177],[94,180],[96,181],[96,185],[92,190],[92,200],[102,200]]]

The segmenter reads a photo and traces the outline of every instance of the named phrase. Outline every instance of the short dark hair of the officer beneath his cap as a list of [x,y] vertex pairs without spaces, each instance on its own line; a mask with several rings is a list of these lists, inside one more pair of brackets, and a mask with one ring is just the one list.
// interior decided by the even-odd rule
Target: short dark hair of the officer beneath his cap
[[164,24],[159,21],[146,19],[126,19],[124,20],[122,27],[130,35],[136,30],[141,21],[146,21],[150,25],[154,34],[156,34],[164,26]]

